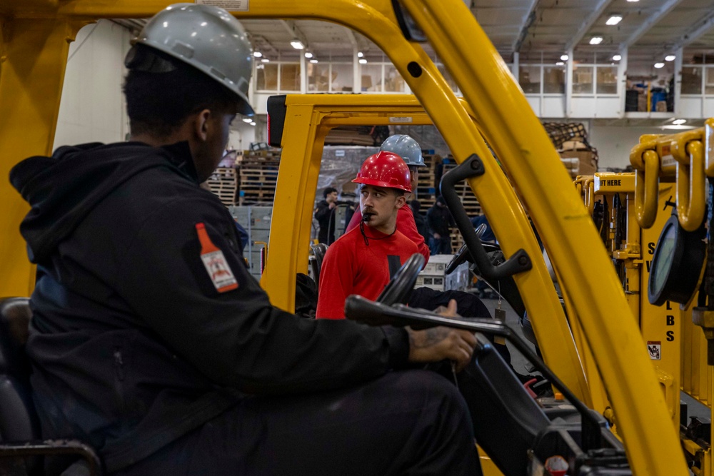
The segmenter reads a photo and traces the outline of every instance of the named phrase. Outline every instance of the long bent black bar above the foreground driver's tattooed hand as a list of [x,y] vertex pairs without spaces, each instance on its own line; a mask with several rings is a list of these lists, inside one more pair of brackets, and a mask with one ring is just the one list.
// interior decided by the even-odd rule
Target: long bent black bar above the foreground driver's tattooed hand
[[553,387],[557,388],[565,399],[578,410],[583,431],[580,445],[583,451],[587,452],[590,449],[602,447],[603,440],[600,434],[600,423],[595,419],[593,410],[590,410],[583,402],[578,400],[578,397],[575,397],[570,389],[565,386],[565,383],[543,363],[543,360],[538,358],[538,355],[535,355],[526,341],[503,321],[488,318],[447,318],[428,310],[409,308],[403,304],[388,306],[375,303],[374,301],[354,294],[348,296],[345,302],[345,315],[346,318],[350,320],[357,320],[368,325],[409,326],[415,330],[443,325],[450,328],[468,330],[472,333],[478,332],[503,336],[518,349],[518,352],[520,352],[528,362],[533,364],[533,367],[535,367],[543,377],[550,380]]

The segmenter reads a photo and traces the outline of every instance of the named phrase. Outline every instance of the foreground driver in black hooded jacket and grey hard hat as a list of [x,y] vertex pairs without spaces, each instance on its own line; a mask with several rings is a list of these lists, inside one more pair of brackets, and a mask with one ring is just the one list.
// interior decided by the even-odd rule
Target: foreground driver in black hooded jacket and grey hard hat
[[236,112],[252,113],[252,61],[228,12],[170,6],[126,59],[131,140],[12,169],[32,207],[26,353],[43,437],[89,442],[110,475],[480,473],[461,395],[393,371],[463,365],[468,333],[273,308],[199,187]]

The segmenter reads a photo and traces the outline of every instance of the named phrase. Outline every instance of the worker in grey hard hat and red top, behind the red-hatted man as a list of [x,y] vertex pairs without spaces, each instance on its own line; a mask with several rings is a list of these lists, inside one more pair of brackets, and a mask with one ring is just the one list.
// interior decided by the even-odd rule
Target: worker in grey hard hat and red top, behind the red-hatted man
[[[410,174],[411,190],[416,190],[419,179],[419,168],[426,167],[424,158],[421,156],[421,147],[418,142],[406,134],[395,134],[389,136],[379,148],[380,151],[396,153],[407,164]],[[406,196],[409,199],[409,196]],[[362,220],[361,213],[355,213],[350,220],[346,232],[353,230]],[[425,243],[423,236],[419,233],[414,222],[414,216],[408,207],[402,207],[397,213],[397,229],[417,246],[419,253],[424,257],[424,263],[429,260],[429,247]]]

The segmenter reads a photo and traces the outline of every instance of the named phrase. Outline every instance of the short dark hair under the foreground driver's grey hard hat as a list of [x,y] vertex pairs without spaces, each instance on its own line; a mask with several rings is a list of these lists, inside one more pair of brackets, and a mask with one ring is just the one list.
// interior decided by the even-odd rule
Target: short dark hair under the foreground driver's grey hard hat
[[132,134],[166,137],[188,116],[203,109],[217,113],[238,111],[241,100],[236,93],[207,74],[148,46],[138,44],[134,48],[134,58],[139,57],[135,64],[151,64],[154,57],[164,67],[154,72],[132,69],[129,64],[124,95]]

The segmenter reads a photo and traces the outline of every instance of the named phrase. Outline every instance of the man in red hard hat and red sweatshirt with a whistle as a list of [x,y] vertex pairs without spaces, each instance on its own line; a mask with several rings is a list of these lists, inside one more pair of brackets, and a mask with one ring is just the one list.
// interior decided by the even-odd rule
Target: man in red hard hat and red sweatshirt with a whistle
[[397,230],[397,213],[408,208],[405,193],[411,192],[409,168],[402,158],[378,152],[367,158],[353,182],[361,183],[362,221],[325,254],[317,318],[344,318],[351,294],[376,299],[407,258],[419,252]]

